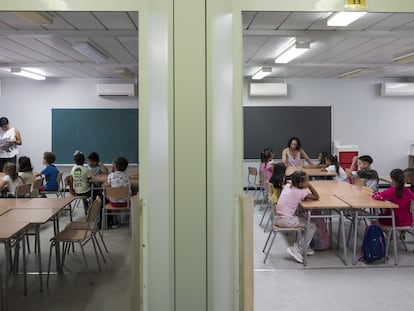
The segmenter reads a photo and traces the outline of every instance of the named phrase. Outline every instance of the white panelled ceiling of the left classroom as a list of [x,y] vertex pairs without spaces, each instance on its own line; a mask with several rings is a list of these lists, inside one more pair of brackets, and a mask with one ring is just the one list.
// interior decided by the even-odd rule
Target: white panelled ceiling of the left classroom
[[[48,78],[135,79],[138,73],[137,12],[47,12],[53,24],[35,25],[0,12],[0,67],[32,67]],[[98,64],[72,48],[88,42],[108,56]],[[126,69],[128,71],[126,71]],[[0,77],[15,75],[0,70]],[[125,78],[124,74],[124,78]]]

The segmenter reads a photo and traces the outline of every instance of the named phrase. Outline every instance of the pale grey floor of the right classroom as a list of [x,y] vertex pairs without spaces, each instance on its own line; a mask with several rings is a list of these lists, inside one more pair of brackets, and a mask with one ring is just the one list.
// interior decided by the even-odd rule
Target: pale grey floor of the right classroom
[[[294,234],[278,234],[266,263],[262,249],[268,233],[258,224],[262,210],[255,207],[255,311],[295,310],[407,310],[413,305],[414,237],[407,234],[406,252],[398,244],[399,266],[389,261],[345,266],[336,249],[316,252],[304,267],[286,252]],[[360,226],[360,239],[363,235]],[[335,228],[335,226],[334,226]],[[359,240],[360,240],[359,239]],[[335,240],[334,240],[335,241]],[[336,243],[334,243],[336,245]],[[360,246],[358,245],[358,254]],[[392,251],[392,249],[391,249]]]

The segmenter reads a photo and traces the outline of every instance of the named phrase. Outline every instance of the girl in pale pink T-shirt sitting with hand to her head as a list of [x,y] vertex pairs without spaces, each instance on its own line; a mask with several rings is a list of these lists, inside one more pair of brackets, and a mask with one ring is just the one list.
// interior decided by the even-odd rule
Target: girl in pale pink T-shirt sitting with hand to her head
[[[316,231],[316,225],[308,222],[305,218],[296,216],[299,202],[304,200],[318,200],[319,194],[316,189],[309,184],[308,176],[303,171],[294,172],[290,177],[291,183],[287,183],[280,194],[276,204],[276,220],[275,225],[284,228],[302,227],[306,230],[306,236],[294,243],[287,249],[291,255],[299,263],[303,262],[303,252],[308,249],[307,255],[313,255],[315,252],[309,248],[309,244]],[[310,190],[309,191],[307,190]]]

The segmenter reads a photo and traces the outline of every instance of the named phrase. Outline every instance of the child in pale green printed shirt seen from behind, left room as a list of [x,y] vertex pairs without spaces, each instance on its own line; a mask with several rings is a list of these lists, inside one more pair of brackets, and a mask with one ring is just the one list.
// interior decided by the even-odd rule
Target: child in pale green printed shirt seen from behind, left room
[[92,177],[92,172],[84,166],[85,156],[80,151],[75,151],[73,154],[75,166],[72,167],[70,174],[72,175],[71,193],[77,196],[83,196],[83,209],[85,214],[88,213],[88,197],[91,196],[91,185],[89,179]]

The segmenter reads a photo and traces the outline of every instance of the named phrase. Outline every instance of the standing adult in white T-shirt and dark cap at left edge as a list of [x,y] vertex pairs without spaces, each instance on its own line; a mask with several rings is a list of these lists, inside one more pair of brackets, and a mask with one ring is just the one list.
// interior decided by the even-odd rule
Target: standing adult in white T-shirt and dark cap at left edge
[[0,118],[0,170],[6,162],[16,163],[17,145],[22,144],[18,129],[11,127],[6,117]]

